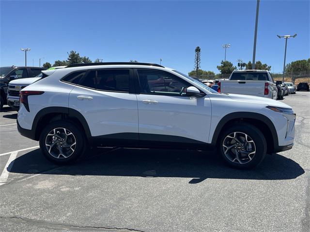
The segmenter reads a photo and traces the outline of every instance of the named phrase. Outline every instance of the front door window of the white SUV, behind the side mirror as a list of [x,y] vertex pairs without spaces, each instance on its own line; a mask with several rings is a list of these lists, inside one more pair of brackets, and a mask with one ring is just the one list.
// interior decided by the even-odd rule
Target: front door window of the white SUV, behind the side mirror
[[164,72],[138,70],[140,92],[146,94],[183,96],[190,85],[178,77]]

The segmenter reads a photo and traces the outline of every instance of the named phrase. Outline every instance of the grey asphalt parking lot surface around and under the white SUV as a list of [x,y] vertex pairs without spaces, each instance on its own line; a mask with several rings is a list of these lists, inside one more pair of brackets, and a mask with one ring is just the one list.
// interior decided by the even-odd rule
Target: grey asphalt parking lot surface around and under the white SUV
[[215,153],[100,150],[56,166],[0,113],[0,231],[309,232],[310,92],[286,96],[297,114],[292,150],[256,169]]

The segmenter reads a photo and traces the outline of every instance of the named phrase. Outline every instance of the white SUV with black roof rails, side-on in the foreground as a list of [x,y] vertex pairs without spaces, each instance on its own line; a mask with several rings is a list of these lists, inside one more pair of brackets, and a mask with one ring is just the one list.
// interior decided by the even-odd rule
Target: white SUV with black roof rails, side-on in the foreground
[[43,71],[20,91],[18,131],[58,164],[90,146],[217,147],[237,168],[294,145],[295,114],[275,100],[220,94],[148,63],[93,63]]

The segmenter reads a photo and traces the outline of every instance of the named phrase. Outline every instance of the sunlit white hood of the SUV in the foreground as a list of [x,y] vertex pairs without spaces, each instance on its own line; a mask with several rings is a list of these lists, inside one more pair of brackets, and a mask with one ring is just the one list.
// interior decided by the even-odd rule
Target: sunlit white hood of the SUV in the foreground
[[282,108],[289,108],[292,109],[291,106],[279,102],[270,98],[263,98],[263,97],[255,97],[255,96],[250,96],[250,95],[242,95],[242,94],[227,94],[228,97],[230,97],[233,100],[236,101],[242,101],[242,102],[256,102],[256,103],[261,103],[265,105],[270,105],[270,106],[277,106],[277,107],[282,107]]

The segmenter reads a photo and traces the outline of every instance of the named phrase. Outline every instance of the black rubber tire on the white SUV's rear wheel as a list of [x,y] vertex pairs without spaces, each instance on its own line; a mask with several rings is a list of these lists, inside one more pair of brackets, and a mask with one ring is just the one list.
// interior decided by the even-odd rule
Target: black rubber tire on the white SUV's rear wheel
[[[54,153],[56,153],[56,156],[57,156],[57,151],[60,151],[59,149],[64,149],[64,148],[60,148],[58,145],[58,141],[59,140],[58,138],[56,139],[56,143],[55,145],[53,145],[53,150],[51,151],[52,154],[50,154],[48,152],[48,145],[46,145],[46,143],[50,143],[52,141],[50,141],[50,139],[54,140],[54,137],[55,136],[51,136],[51,135],[48,135],[48,133],[50,131],[53,131],[54,129],[58,129],[58,130],[55,130],[55,134],[57,134],[57,136],[59,135],[62,135],[60,137],[63,137],[63,136],[66,136],[64,135],[64,130],[63,129],[66,129],[65,131],[68,133],[66,137],[68,137],[68,139],[70,139],[71,141],[71,144],[74,144],[74,140],[76,141],[76,145],[72,145],[72,149],[70,150],[71,147],[67,147],[65,148],[65,152],[68,153],[66,154],[67,158],[65,158],[63,155],[61,155],[59,158],[53,156],[55,155]],[[72,134],[70,134],[69,132],[71,132]],[[58,164],[58,165],[64,165],[64,164],[70,164],[70,163],[73,163],[75,162],[76,160],[78,160],[79,157],[81,157],[85,151],[86,151],[86,147],[87,147],[87,141],[86,141],[86,136],[81,132],[83,130],[81,130],[75,123],[71,122],[71,121],[65,121],[65,120],[59,120],[59,121],[55,121],[55,122],[52,122],[52,123],[49,123],[42,131],[41,135],[40,135],[40,141],[39,141],[39,144],[40,144],[40,149],[43,153],[43,155],[47,158],[47,160],[55,163],[55,164]],[[57,132],[60,132],[60,133],[57,133]],[[55,137],[56,138],[56,137]],[[67,141],[67,139],[65,140],[65,142]],[[62,141],[59,142],[59,144],[62,143]],[[67,142],[67,146],[70,145],[69,142]],[[65,143],[64,144],[61,144],[63,145],[66,145]],[[72,152],[72,150],[74,150]],[[63,151],[63,150],[62,150]],[[70,154],[72,152],[72,154]],[[64,154],[64,152],[61,152]],[[69,155],[70,154],[70,155]]]

